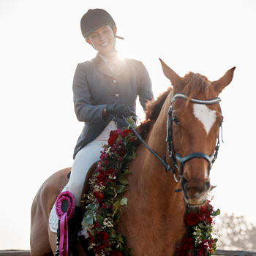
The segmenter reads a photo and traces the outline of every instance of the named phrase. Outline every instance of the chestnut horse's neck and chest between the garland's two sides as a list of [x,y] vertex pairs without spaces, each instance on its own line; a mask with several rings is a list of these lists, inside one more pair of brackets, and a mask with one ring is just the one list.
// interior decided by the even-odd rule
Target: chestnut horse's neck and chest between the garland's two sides
[[[163,106],[146,138],[148,146],[160,157],[167,154],[167,107]],[[174,255],[186,232],[184,200],[181,193],[175,192],[179,185],[173,174],[165,173],[159,159],[142,144],[130,170],[129,207],[124,209],[120,230],[132,247],[132,255]]]

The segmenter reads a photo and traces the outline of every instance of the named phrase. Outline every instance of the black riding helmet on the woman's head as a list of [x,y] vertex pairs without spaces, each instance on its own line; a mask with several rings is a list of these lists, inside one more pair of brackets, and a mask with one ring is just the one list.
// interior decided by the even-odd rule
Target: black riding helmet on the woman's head
[[[91,32],[107,25],[110,25],[113,29],[113,27],[116,26],[116,23],[110,14],[102,9],[88,10],[80,21],[83,37],[88,37]],[[119,39],[124,39],[123,37],[116,37]]]

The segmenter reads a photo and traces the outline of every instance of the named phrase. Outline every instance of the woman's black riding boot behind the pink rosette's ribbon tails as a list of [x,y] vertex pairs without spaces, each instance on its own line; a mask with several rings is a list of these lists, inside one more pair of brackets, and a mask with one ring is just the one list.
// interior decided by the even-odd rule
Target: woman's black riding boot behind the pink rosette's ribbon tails
[[[75,250],[75,244],[78,237],[78,231],[81,228],[81,222],[83,220],[83,211],[80,207],[75,206],[75,211],[71,219],[67,222],[67,227],[69,230],[69,255],[72,250]],[[55,256],[59,256],[59,240],[60,240],[60,221],[58,224],[57,230],[57,248],[55,252]]]

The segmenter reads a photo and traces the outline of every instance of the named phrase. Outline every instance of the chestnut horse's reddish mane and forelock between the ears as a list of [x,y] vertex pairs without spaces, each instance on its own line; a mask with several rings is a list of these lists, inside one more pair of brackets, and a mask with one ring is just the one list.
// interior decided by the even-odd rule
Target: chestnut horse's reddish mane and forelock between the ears
[[[184,76],[183,82],[176,85],[175,91],[181,94],[185,94],[189,99],[195,97],[198,93],[203,93],[208,97],[209,89],[211,88],[209,80],[198,73],[189,72]],[[137,128],[137,131],[140,133],[142,138],[146,138],[148,131],[151,127],[152,121],[157,120],[159,113],[162,109],[162,105],[164,105],[165,99],[167,95],[172,90],[172,87],[169,87],[167,91],[157,97],[157,99],[153,99],[150,102],[147,102],[146,105],[146,120],[143,121],[140,126]]]

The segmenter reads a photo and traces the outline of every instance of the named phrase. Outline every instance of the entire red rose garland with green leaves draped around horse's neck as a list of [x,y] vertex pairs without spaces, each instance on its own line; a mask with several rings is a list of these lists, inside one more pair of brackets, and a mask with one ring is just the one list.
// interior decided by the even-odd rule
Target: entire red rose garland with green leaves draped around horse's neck
[[[127,206],[127,197],[123,194],[129,184],[126,176],[130,173],[129,162],[135,159],[137,141],[130,129],[111,131],[108,145],[103,146],[97,173],[90,181],[94,189],[83,195],[88,205],[82,225],[89,235],[88,249],[96,256],[131,255],[131,249],[127,247],[124,236],[116,231],[116,226],[121,217],[121,206]],[[187,206],[187,236],[178,246],[176,256],[214,253],[218,239],[214,239],[212,233],[214,217],[219,213],[219,209],[214,211],[210,201],[199,207]]]

